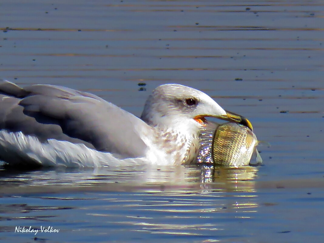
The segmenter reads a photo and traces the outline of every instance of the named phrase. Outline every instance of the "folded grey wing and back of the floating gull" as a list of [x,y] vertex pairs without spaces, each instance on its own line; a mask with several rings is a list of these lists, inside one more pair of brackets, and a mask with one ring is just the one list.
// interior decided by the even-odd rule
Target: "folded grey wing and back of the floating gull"
[[151,127],[133,114],[90,93],[52,85],[25,88],[0,81],[0,129],[82,143],[120,157],[144,156],[140,137]]

